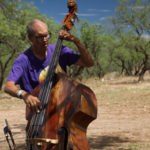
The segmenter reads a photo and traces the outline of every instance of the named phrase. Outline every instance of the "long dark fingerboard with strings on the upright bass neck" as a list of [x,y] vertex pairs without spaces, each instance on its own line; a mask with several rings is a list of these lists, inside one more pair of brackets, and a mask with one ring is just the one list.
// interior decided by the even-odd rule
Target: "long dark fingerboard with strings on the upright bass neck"
[[46,78],[42,84],[42,89],[41,89],[41,92],[39,95],[39,100],[42,105],[42,110],[40,111],[40,113],[35,114],[34,120],[37,120],[37,121],[34,121],[33,125],[40,126],[43,124],[44,114],[46,111],[46,106],[48,104],[49,94],[50,94],[52,86],[53,86],[54,74],[55,74],[55,70],[56,70],[56,67],[57,67],[57,64],[59,61],[59,56],[60,56],[60,52],[61,52],[61,48],[62,48],[62,41],[63,40],[58,37],[57,43],[55,45],[55,49],[53,51],[52,59],[49,64],[49,69],[48,69]]

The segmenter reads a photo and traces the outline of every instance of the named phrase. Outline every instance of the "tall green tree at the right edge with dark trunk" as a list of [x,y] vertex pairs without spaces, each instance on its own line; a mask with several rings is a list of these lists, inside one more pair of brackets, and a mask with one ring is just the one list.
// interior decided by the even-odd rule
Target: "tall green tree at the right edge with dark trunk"
[[112,18],[114,33],[120,46],[114,51],[115,63],[128,75],[142,79],[150,69],[149,0],[118,1],[116,15]]

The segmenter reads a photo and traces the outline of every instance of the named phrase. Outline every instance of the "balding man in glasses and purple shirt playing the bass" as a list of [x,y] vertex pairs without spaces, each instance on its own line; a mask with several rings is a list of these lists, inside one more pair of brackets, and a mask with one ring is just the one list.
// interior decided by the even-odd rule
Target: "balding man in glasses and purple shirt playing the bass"
[[[14,62],[4,90],[14,97],[22,98],[32,111],[38,113],[41,109],[40,100],[31,93],[39,84],[40,73],[49,65],[55,45],[48,44],[47,25],[39,19],[29,22],[27,34],[32,45]],[[78,55],[71,49],[62,46],[59,64],[64,71],[67,65],[75,64],[83,67],[93,65],[92,57],[77,37],[64,30],[60,31],[59,37],[73,42],[80,52]],[[16,86],[17,84],[21,89]]]

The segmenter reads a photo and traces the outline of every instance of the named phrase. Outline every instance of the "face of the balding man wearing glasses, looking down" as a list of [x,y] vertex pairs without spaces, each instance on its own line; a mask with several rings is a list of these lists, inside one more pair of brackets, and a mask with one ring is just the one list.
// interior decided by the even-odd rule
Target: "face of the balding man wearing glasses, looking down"
[[47,26],[43,22],[37,22],[32,26],[34,34],[29,37],[32,45],[37,50],[46,51],[48,48],[49,32]]

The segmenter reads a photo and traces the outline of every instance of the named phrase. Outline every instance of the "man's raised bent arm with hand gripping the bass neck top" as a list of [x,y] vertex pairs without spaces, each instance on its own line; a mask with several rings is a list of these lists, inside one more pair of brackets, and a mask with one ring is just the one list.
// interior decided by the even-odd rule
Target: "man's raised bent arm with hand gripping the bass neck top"
[[75,63],[75,65],[79,65],[82,67],[91,67],[94,65],[92,56],[90,55],[88,50],[85,48],[85,46],[83,46],[83,44],[80,42],[80,40],[77,37],[75,37],[70,32],[62,30],[62,31],[60,31],[60,38],[62,38],[63,40],[74,42],[75,45],[77,46],[77,48],[80,52],[80,58]]

